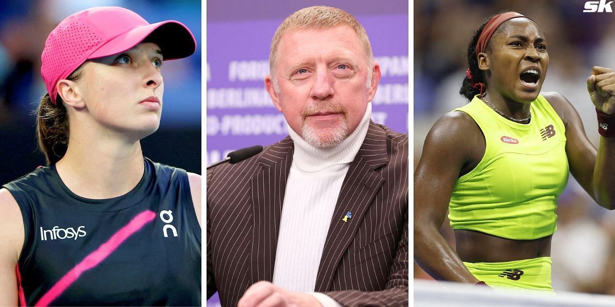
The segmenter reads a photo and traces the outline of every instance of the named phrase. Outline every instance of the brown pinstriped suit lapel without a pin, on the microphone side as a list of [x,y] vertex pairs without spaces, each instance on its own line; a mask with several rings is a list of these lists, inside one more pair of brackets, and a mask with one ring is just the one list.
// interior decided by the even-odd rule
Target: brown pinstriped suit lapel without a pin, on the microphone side
[[273,279],[280,216],[292,160],[293,142],[289,136],[261,153],[258,158],[260,170],[250,181],[253,219],[251,284]]

